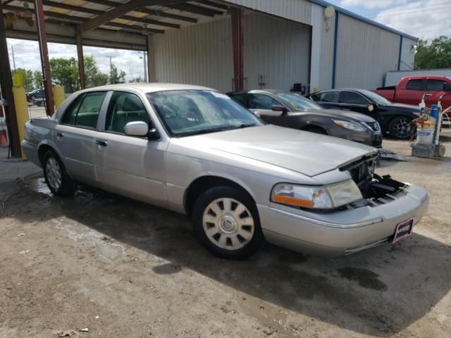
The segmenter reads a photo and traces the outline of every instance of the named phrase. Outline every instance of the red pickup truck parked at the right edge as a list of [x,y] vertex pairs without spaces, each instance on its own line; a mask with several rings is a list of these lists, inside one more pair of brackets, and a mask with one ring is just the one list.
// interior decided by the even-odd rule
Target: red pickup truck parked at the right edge
[[[400,104],[414,104],[421,102],[424,94],[426,106],[437,104],[438,98],[451,92],[451,78],[446,76],[406,76],[402,77],[395,87],[381,87],[374,92],[385,99]],[[443,97],[442,107],[451,106],[451,94]]]

